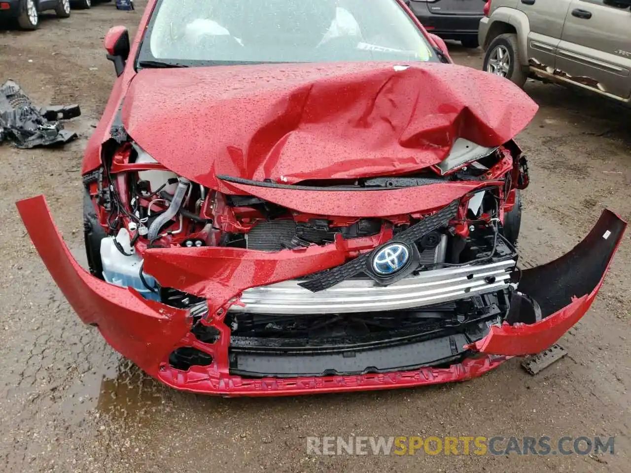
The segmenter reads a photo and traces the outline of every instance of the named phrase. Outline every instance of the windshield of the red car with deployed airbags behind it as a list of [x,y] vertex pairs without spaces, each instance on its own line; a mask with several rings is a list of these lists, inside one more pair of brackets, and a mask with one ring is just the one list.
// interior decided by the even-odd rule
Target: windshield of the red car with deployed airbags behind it
[[159,0],[140,66],[437,61],[396,0]]

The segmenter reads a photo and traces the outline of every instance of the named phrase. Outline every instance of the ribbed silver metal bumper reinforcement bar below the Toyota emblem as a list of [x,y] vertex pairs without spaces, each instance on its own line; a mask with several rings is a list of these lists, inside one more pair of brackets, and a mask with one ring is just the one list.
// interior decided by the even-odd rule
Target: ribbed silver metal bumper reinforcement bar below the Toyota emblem
[[390,286],[372,279],[348,279],[332,288],[312,292],[291,279],[246,289],[230,312],[300,315],[376,312],[439,304],[509,287],[515,260],[424,271]]

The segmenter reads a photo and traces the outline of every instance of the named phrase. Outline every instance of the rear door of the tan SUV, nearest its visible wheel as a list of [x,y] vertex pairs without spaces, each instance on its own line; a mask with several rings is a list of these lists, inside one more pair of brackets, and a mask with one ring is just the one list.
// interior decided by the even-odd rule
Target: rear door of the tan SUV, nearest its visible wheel
[[517,4],[517,8],[528,16],[528,59],[531,66],[553,71],[563,22],[571,1],[520,0]]

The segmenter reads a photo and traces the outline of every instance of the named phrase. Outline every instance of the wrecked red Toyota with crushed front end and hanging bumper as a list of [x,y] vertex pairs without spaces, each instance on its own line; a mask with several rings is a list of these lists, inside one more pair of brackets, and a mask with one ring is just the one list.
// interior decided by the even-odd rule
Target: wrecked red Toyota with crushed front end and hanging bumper
[[181,390],[466,380],[557,341],[626,224],[519,269],[536,104],[403,0],[150,0],[83,160],[89,271],[18,210],[86,324]]

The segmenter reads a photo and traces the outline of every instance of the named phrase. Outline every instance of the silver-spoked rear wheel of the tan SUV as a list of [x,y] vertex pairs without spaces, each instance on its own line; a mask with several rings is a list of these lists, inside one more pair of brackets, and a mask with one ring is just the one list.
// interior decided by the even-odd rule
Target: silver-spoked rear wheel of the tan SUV
[[526,73],[521,66],[517,35],[504,33],[495,37],[488,46],[483,69],[488,73],[505,77],[519,87],[526,83]]

